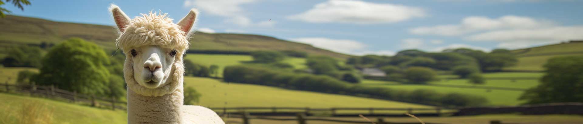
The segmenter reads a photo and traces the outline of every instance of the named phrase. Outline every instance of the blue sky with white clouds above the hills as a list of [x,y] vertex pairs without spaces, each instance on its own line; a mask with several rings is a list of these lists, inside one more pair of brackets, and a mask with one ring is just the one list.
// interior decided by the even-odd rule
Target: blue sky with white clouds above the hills
[[[115,25],[111,3],[133,19],[161,11],[174,21],[200,11],[196,29],[267,35],[339,53],[521,49],[583,39],[583,0],[180,0],[31,1],[11,14]],[[196,46],[195,46],[196,47]]]

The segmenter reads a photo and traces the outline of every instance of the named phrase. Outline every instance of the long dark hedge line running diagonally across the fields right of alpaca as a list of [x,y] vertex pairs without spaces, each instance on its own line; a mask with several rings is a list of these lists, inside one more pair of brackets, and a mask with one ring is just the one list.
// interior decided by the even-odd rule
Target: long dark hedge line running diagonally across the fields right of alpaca
[[280,72],[265,68],[245,67],[243,65],[234,65],[224,68],[223,79],[226,82],[278,86],[287,89],[347,94],[375,99],[448,107],[479,106],[487,104],[488,102],[482,96],[471,96],[459,93],[442,94],[431,89],[407,91],[394,90],[387,87],[360,86],[343,82],[325,75],[294,74],[291,72]]

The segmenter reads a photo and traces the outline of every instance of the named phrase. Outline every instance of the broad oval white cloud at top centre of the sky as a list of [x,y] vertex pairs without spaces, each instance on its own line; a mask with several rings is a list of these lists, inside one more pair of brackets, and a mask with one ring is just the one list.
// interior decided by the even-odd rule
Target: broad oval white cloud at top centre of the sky
[[310,23],[379,24],[424,16],[426,16],[424,10],[417,7],[355,0],[329,0],[316,4],[306,12],[287,16],[287,19]]

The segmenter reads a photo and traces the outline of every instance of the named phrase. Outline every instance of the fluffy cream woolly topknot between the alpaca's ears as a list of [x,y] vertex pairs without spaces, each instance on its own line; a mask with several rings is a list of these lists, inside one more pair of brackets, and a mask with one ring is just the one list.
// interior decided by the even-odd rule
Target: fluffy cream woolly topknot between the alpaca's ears
[[121,32],[116,45],[124,51],[132,47],[156,45],[163,48],[176,49],[181,52],[188,49],[188,32],[180,30],[180,26],[172,23],[167,13],[141,13],[129,21],[124,32]]

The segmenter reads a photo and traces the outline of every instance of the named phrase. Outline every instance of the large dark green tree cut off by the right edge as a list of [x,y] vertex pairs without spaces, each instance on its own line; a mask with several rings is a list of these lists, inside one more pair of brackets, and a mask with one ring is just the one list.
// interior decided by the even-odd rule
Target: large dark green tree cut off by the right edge
[[519,98],[526,104],[583,102],[583,56],[554,57],[543,66],[540,84]]

